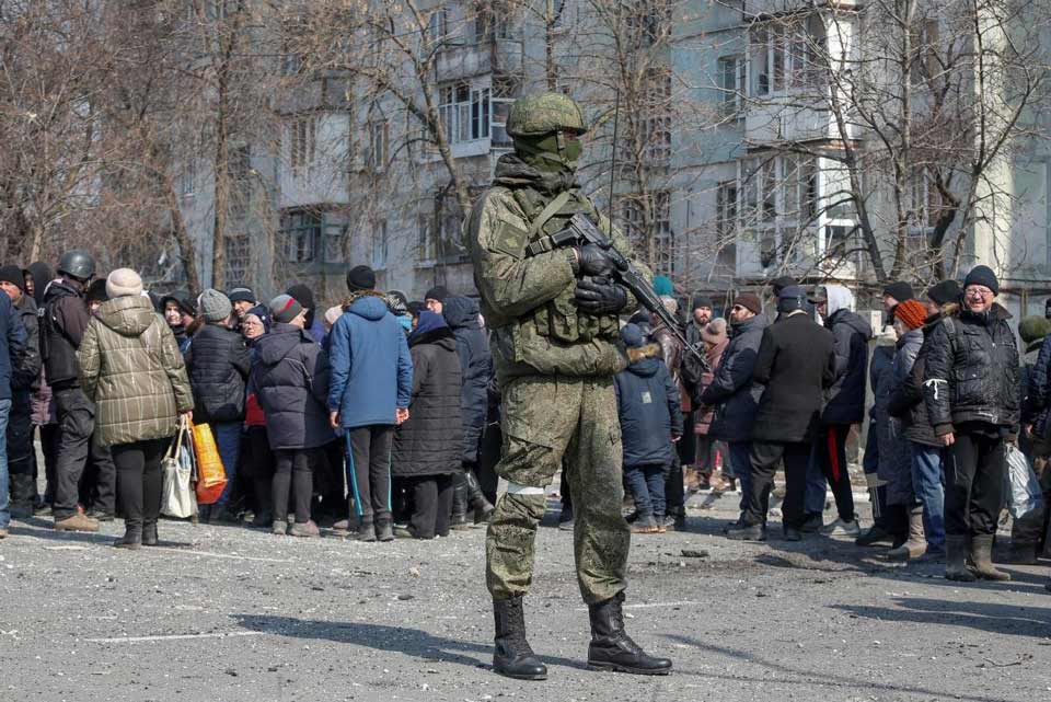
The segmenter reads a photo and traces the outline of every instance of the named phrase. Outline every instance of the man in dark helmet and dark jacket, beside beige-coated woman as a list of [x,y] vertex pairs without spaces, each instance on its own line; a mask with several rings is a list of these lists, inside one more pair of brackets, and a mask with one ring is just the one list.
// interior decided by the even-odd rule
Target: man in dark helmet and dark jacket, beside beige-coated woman
[[80,389],[77,361],[90,319],[84,290],[95,274],[95,260],[83,251],[70,251],[59,260],[58,274],[61,277],[47,287],[41,315],[41,355],[60,430],[51,514],[59,531],[97,531],[99,521],[84,515],[77,504],[80,476],[89,457],[99,471],[102,511],[112,514],[116,502],[116,469],[109,449],[92,440],[95,405]]

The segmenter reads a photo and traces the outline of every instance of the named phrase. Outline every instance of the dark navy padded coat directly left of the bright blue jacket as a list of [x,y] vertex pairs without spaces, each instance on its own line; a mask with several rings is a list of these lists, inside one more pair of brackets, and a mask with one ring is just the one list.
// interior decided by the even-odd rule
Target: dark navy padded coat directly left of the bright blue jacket
[[270,448],[311,449],[332,441],[324,349],[304,330],[275,324],[254,352],[250,385],[266,415]]

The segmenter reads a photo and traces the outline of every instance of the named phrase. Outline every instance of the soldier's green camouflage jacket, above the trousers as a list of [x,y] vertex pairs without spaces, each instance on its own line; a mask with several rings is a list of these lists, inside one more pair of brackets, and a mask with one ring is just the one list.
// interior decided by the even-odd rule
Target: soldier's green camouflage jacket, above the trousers
[[[632,260],[627,239],[568,179],[541,174],[512,154],[501,157],[496,176],[465,223],[464,241],[482,295],[482,313],[493,330],[498,381],[530,375],[612,376],[623,370],[627,361],[617,343],[616,315],[585,314],[573,302],[577,283],[573,251],[530,256],[527,248],[564,229],[580,211]],[[635,304],[628,296],[624,311]]]

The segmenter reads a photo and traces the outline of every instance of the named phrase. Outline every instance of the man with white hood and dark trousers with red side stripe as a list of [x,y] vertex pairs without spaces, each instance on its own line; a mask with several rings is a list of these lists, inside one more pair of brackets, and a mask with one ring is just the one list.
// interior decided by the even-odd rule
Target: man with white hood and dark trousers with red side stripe
[[[873,327],[853,312],[854,296],[842,285],[818,287],[812,300],[835,343],[835,382],[829,390],[829,402],[821,414],[821,429],[815,437],[813,456],[816,467],[821,469],[824,480],[832,487],[839,518],[822,527],[821,533],[857,538],[862,529],[854,514],[846,438],[851,427],[865,419],[868,340],[873,337]],[[823,483],[818,484],[821,487],[819,492],[823,493]],[[818,500],[812,502],[819,504]],[[820,505],[823,511],[823,494],[820,495]],[[820,515],[817,517],[820,519]]]

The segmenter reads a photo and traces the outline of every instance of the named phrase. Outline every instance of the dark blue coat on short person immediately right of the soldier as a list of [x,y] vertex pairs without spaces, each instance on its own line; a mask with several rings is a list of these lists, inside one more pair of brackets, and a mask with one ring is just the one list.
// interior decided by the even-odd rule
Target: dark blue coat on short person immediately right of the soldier
[[671,465],[671,437],[682,426],[679,384],[661,360],[659,344],[628,348],[627,357],[631,365],[613,378],[624,468]]

